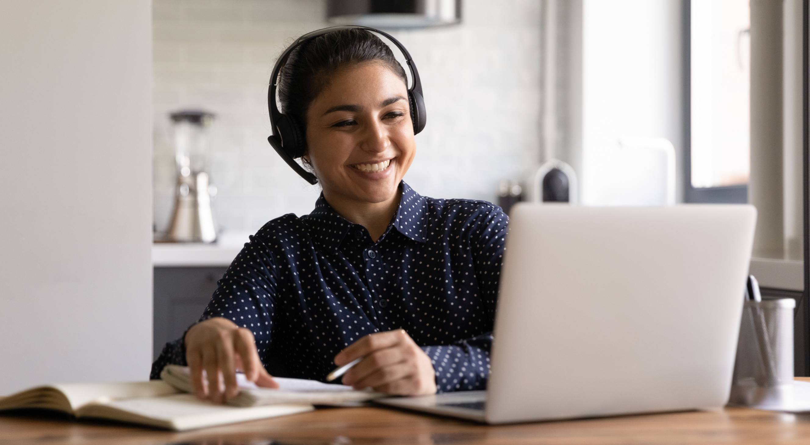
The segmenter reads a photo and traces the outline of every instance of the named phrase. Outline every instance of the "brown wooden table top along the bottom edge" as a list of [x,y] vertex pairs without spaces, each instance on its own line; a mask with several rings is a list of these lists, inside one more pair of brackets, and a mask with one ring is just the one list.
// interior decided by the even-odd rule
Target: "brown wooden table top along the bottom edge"
[[318,409],[173,433],[55,414],[0,415],[0,445],[200,444],[704,444],[810,443],[810,414],[754,409],[648,414],[577,421],[484,426],[381,408]]

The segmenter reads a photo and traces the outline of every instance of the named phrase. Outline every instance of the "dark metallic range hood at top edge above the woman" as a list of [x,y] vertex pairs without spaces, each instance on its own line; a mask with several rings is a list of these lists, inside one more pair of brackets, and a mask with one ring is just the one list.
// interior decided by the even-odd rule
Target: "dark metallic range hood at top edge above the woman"
[[326,20],[389,29],[459,24],[461,0],[327,0]]

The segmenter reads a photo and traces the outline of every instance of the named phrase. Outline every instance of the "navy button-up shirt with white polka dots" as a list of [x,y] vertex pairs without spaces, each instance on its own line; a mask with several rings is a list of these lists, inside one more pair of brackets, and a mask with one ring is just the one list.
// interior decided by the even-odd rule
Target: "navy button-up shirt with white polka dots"
[[[399,208],[373,242],[323,193],[309,215],[271,220],[217,281],[200,321],[255,336],[273,375],[324,381],[335,354],[403,328],[433,362],[438,392],[484,389],[509,217],[473,199],[433,199],[400,182]],[[183,338],[152,364],[185,365]]]

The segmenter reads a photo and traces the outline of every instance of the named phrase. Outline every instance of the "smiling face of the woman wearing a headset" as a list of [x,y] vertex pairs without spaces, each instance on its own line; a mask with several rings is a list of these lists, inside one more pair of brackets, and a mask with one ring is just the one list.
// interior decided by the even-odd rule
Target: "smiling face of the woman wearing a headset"
[[406,84],[378,63],[339,71],[309,106],[306,139],[324,195],[392,199],[416,152]]

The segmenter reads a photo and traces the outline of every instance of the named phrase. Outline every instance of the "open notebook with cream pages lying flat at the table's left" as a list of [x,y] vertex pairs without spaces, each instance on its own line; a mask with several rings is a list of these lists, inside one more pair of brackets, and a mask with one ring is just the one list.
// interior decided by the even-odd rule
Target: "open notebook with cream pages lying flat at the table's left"
[[160,380],[126,383],[64,383],[32,387],[0,398],[0,411],[52,409],[75,417],[98,417],[168,430],[192,430],[313,409],[312,404],[237,408],[198,400]]

